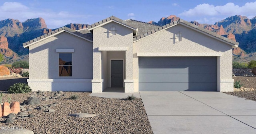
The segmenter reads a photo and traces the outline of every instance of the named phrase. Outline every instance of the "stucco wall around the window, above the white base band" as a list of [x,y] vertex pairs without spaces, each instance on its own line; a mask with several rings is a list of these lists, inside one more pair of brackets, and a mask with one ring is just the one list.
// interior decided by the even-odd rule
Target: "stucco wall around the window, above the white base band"
[[[72,77],[59,77],[56,49],[74,49]],[[29,79],[92,79],[92,43],[67,32],[30,46],[29,56]]]

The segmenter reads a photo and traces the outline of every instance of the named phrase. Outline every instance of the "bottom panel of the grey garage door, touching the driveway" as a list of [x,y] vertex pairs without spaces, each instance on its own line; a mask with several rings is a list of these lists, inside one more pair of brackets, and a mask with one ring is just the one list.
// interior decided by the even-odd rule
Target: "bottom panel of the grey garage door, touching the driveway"
[[216,91],[216,83],[139,83],[140,91]]

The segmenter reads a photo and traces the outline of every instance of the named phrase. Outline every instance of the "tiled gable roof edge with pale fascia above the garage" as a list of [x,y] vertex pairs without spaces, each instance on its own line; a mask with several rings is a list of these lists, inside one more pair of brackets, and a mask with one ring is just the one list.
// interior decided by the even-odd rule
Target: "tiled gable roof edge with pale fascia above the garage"
[[187,21],[182,20],[182,19],[179,19],[179,20],[177,20],[177,21],[171,22],[171,23],[166,24],[166,25],[164,25],[164,26],[158,27],[158,28],[156,28],[156,29],[154,29],[154,30],[151,30],[151,31],[149,31],[149,32],[146,32],[145,34],[141,34],[140,36],[135,36],[135,37],[133,38],[133,41],[136,42],[137,40],[140,40],[140,39],[142,39],[142,38],[145,38],[145,37],[147,37],[147,36],[149,36],[149,35],[151,35],[151,34],[154,34],[154,33],[156,33],[156,32],[159,32],[159,31],[161,31],[161,30],[165,30],[165,29],[171,28],[172,26],[175,26],[175,25],[177,25],[177,24],[182,24],[183,26],[186,26],[186,27],[188,27],[188,28],[192,28],[192,29],[194,29],[194,30],[197,30],[198,32],[201,32],[201,33],[203,33],[203,34],[205,34],[205,35],[207,35],[207,36],[211,36],[211,37],[216,38],[216,39],[218,39],[218,40],[220,40],[220,41],[222,41],[222,42],[226,42],[227,44],[230,44],[230,45],[232,45],[233,47],[238,47],[238,44],[239,44],[238,42],[234,42],[233,40],[230,40],[230,39],[228,39],[228,38],[226,38],[226,37],[224,37],[224,36],[221,36],[221,35],[219,35],[219,34],[216,34],[216,33],[214,33],[214,32],[211,32],[211,31],[209,31],[209,30],[206,30],[206,29],[204,29],[204,28],[200,28],[199,26],[196,26],[195,24],[192,24],[192,23],[187,22]]

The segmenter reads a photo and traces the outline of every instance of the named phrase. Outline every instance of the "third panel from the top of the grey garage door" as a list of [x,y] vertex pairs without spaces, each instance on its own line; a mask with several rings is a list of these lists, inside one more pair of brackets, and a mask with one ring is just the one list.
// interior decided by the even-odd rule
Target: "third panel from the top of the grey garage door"
[[216,74],[140,74],[139,82],[216,82]]

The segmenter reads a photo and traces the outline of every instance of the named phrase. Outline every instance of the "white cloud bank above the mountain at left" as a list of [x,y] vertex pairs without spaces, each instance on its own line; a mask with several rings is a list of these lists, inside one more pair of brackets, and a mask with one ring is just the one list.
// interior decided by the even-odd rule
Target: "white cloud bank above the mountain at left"
[[38,17],[44,18],[47,27],[53,29],[70,23],[82,23],[86,18],[91,17],[91,15],[72,14],[66,11],[53,12],[49,9],[28,8],[19,2],[5,2],[0,6],[0,20],[13,18],[18,19],[20,22],[24,22],[27,19]]

